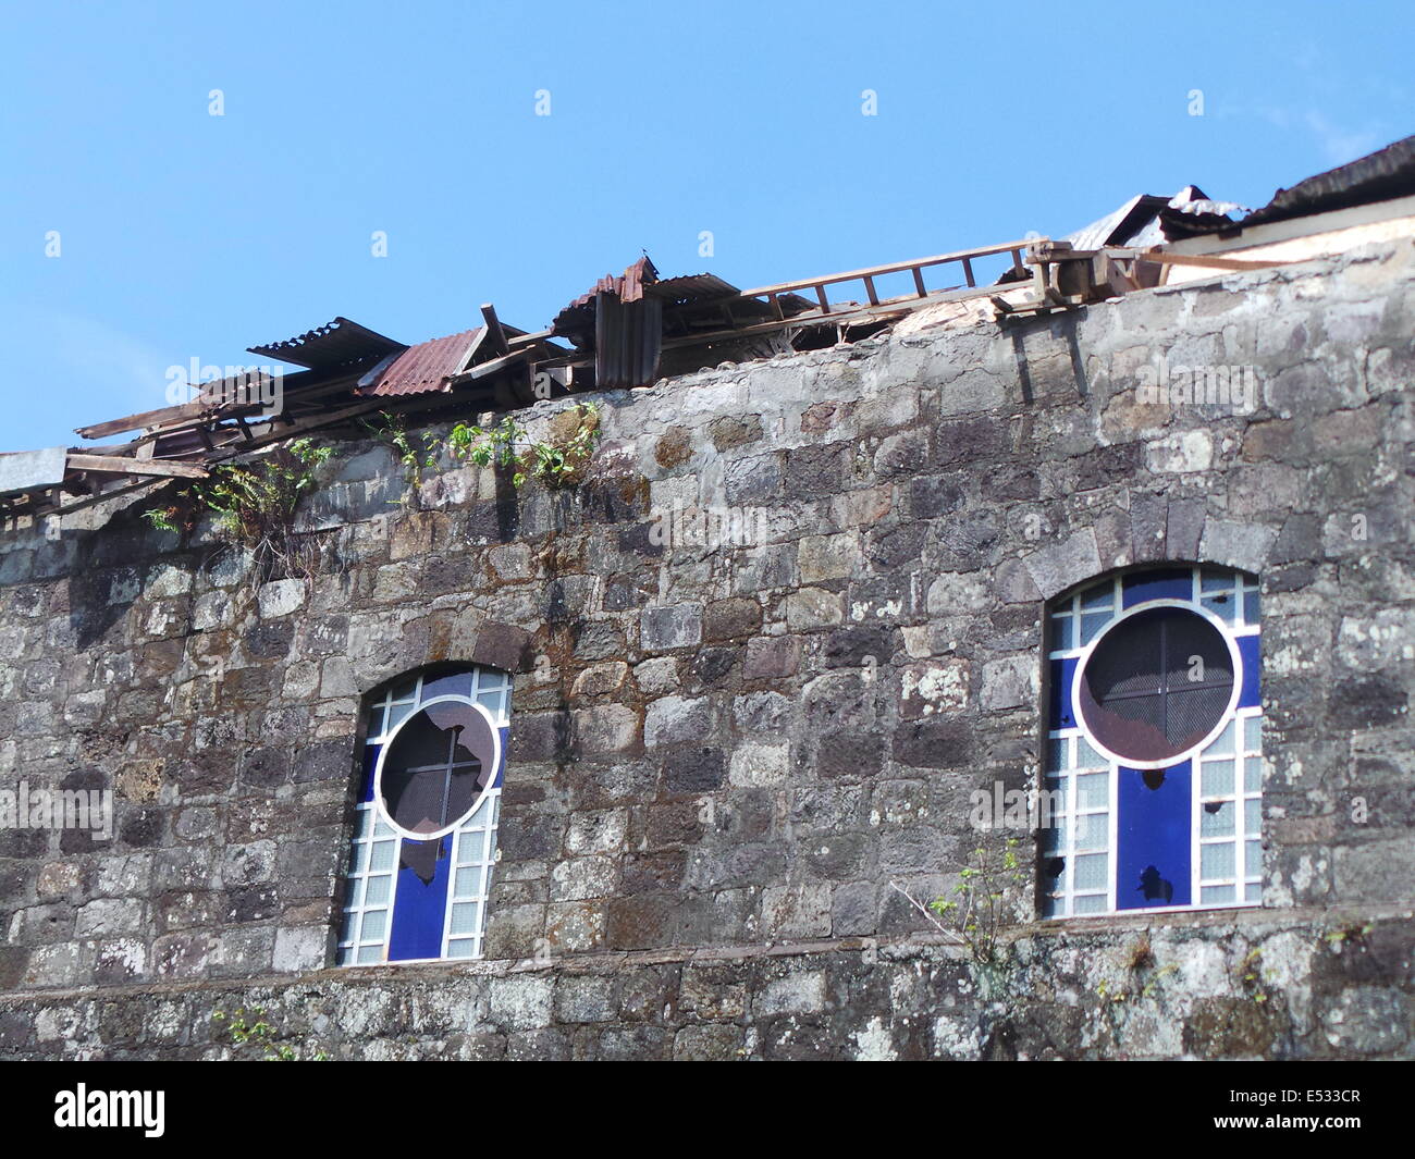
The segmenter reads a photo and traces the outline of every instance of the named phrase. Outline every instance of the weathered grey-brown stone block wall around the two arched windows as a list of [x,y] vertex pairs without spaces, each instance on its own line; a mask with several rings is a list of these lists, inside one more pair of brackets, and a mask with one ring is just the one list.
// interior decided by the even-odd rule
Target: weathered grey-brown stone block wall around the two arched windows
[[[574,492],[351,443],[311,583],[133,511],[4,534],[0,778],[117,824],[0,831],[3,1050],[202,1054],[262,1001],[354,1056],[1409,1053],[1412,325],[1398,243],[607,393]],[[1257,409],[1143,405],[1160,357]],[[1162,559],[1262,580],[1264,910],[1142,923],[1157,981],[1135,918],[979,975],[890,883],[1033,783],[1044,600]],[[449,659],[516,674],[488,961],[330,971],[362,698]]]

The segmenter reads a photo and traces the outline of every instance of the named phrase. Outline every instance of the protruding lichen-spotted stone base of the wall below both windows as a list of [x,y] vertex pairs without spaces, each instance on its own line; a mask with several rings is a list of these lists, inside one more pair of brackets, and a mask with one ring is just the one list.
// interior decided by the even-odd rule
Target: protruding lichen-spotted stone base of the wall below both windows
[[[1409,910],[1026,931],[979,974],[928,935],[324,969],[0,1005],[10,1059],[1409,1057]],[[236,1044],[231,1023],[269,1040]],[[225,1017],[218,1017],[224,1015]]]

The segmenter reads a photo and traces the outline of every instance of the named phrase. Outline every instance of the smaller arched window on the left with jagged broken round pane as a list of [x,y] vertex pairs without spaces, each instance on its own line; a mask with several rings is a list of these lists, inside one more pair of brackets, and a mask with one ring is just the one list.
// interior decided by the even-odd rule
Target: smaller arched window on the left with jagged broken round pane
[[338,964],[480,958],[511,676],[429,671],[375,693]]

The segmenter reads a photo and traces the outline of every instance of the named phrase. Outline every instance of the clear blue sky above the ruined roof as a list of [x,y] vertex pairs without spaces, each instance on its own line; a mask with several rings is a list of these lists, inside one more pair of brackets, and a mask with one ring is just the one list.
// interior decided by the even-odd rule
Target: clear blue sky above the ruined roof
[[3,450],[335,314],[539,328],[641,250],[750,286],[1261,205],[1415,129],[1408,0],[0,10]]

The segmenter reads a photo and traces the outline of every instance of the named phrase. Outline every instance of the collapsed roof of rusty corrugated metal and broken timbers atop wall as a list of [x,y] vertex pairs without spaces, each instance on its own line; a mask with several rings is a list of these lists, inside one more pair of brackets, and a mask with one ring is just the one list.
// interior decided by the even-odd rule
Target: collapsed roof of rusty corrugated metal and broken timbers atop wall
[[[164,480],[204,478],[236,456],[303,433],[351,429],[375,410],[424,420],[509,410],[558,395],[644,386],[724,361],[857,341],[906,318],[918,330],[954,324],[951,318],[1005,321],[1077,309],[1159,284],[1169,263],[1276,265],[1163,250],[1177,238],[1412,192],[1415,137],[1407,137],[1279,190],[1241,219],[1232,215],[1242,207],[1186,185],[1170,198],[1132,197],[1058,242],[1024,238],[746,290],[706,272],[659,279],[642,255],[623,273],[599,279],[535,333],[504,325],[490,303],[481,307],[481,325],[413,345],[335,317],[249,347],[299,371],[201,384],[188,402],[78,429],[88,440],[126,434],[126,442],[0,456],[0,521],[65,514]],[[981,279],[974,263],[998,258],[1010,258],[1007,273]],[[911,289],[884,296],[890,276]]]

